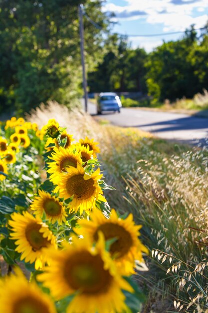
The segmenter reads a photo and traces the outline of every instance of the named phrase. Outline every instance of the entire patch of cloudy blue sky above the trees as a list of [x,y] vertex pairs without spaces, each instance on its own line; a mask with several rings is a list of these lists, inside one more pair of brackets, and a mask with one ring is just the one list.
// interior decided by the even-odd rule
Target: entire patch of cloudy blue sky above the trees
[[[115,13],[113,31],[126,35],[184,31],[192,24],[201,28],[208,21],[208,0],[106,0],[103,9]],[[144,47],[149,52],[163,39],[177,40],[182,36],[129,36],[129,40],[133,48]]]

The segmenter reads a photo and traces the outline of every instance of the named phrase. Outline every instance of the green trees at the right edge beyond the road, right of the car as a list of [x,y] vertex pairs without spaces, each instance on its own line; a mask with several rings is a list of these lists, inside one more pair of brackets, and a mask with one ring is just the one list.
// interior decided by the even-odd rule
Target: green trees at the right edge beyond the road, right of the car
[[177,41],[164,42],[148,55],[146,81],[153,104],[192,98],[208,86],[208,35],[199,41],[194,26]]

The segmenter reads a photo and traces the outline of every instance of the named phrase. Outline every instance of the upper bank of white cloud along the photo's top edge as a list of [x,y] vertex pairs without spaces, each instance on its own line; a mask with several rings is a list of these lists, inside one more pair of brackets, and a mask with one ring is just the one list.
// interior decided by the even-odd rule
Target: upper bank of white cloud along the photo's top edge
[[105,10],[114,11],[120,21],[146,18],[151,24],[164,23],[166,31],[178,31],[193,23],[202,27],[208,16],[207,19],[206,15],[193,17],[193,9],[202,12],[207,7],[207,0],[126,0],[125,6],[108,2]]

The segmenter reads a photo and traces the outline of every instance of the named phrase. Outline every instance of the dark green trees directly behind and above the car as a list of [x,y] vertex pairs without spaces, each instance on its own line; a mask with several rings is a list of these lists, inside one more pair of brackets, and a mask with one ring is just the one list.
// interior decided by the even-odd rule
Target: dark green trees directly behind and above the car
[[88,75],[90,92],[145,92],[145,50],[132,49],[127,43],[127,38],[116,34],[108,38],[104,48],[103,60]]

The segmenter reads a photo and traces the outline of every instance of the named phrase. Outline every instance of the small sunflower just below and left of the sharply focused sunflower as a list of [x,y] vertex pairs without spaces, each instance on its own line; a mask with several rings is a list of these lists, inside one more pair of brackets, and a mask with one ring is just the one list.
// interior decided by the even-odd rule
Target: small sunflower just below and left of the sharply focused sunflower
[[40,217],[45,213],[48,220],[54,223],[56,220],[59,224],[66,221],[65,208],[54,195],[48,192],[38,190],[39,196],[35,196],[30,208]]

